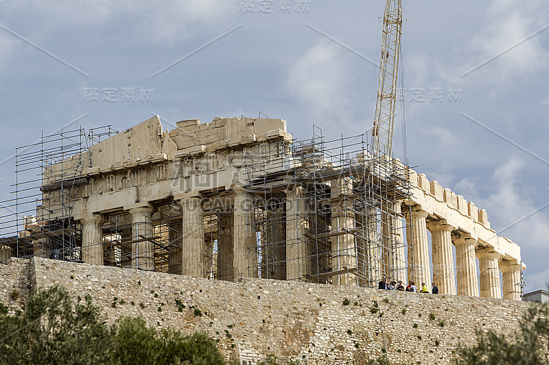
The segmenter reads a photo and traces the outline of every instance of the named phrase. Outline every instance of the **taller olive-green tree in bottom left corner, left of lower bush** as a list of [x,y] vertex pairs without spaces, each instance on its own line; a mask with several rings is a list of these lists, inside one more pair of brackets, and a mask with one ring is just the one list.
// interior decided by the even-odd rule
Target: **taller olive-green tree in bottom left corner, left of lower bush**
[[86,297],[74,303],[56,286],[27,298],[23,312],[0,318],[0,364],[106,364],[111,336]]

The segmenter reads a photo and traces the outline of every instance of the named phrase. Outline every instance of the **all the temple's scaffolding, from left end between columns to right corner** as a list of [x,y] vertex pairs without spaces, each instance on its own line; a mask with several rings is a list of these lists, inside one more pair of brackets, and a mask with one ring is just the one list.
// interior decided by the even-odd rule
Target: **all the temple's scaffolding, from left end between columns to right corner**
[[[14,199],[0,208],[0,262],[82,261],[83,223],[75,221],[73,205],[93,194],[83,173],[93,166],[91,145],[114,133],[109,126],[61,131],[16,149]],[[413,273],[401,211],[411,205],[408,166],[371,151],[364,135],[326,140],[315,126],[309,140],[244,147],[249,277],[375,287],[382,278],[404,281]],[[104,179],[115,184],[114,177]],[[234,281],[235,194],[224,186],[200,193],[205,276]],[[103,264],[182,273],[189,258],[181,209],[166,197],[141,216],[104,212],[95,243]]]

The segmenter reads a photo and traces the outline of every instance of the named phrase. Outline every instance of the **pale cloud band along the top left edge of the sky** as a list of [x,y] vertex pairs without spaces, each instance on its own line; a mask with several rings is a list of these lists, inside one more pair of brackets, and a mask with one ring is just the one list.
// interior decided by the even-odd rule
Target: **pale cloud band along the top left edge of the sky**
[[[10,1],[3,4],[8,13],[26,12],[36,19],[36,36],[45,37],[64,27],[89,29],[104,27],[112,22],[119,32],[131,34],[132,40],[155,43],[180,42],[200,31],[204,34],[224,25],[237,14],[237,4],[224,0],[180,0],[180,1],[108,1],[108,0],[36,0],[32,6],[28,2]],[[32,9],[32,10],[30,10]]]

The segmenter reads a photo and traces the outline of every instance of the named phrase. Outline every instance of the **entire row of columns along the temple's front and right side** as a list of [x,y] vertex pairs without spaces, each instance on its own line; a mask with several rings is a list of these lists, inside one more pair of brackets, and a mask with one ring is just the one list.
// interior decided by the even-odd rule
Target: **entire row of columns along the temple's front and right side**
[[[336,231],[347,231],[331,238],[332,268],[334,271],[345,270],[357,266],[357,240],[351,230],[357,224],[369,225],[368,214],[366,222],[355,222],[355,216],[341,203],[347,194],[352,194],[352,184],[348,181],[337,181],[331,192],[332,227]],[[307,242],[308,219],[306,212],[305,188],[294,184],[285,190],[286,222],[285,222],[285,279],[302,280],[310,272],[309,245]],[[220,220],[218,242],[218,266],[220,278],[235,280],[239,277],[257,277],[257,254],[250,250],[256,241],[256,233],[249,224],[252,221],[251,198],[244,188],[233,190],[233,213]],[[170,236],[178,253],[170,257],[170,272],[194,277],[206,277],[207,251],[213,249],[212,242],[205,242],[204,214],[201,198],[187,196],[178,199],[182,208],[181,236]],[[392,244],[382,244],[386,252],[364,252],[366,257],[383,257],[381,261],[371,262],[371,266],[390,268],[391,277],[405,281],[406,266],[404,262],[404,244],[397,215],[400,205],[393,207],[394,214],[382,216],[382,237]],[[154,244],[152,205],[132,207],[128,210],[132,216],[132,267],[143,270],[154,270]],[[434,281],[439,286],[441,294],[467,295],[471,297],[500,298],[500,271],[503,274],[504,299],[519,300],[520,288],[515,285],[520,281],[520,264],[502,261],[500,254],[489,249],[476,250],[477,241],[468,236],[452,236],[454,227],[445,220],[427,223],[428,213],[414,209],[406,214],[406,238],[408,240],[408,280],[417,284],[430,284]],[[82,225],[82,260],[90,264],[103,264],[102,224],[101,214],[91,214],[80,219]],[[428,247],[428,233],[432,235],[432,280]],[[375,229],[371,229],[375,231]],[[376,241],[377,237],[368,238]],[[135,241],[135,242],[133,242]],[[452,244],[456,247],[456,268],[454,270],[454,255]],[[375,249],[371,247],[370,249]],[[480,283],[477,275],[476,257],[480,260]],[[387,270],[384,270],[387,273]],[[358,285],[357,277],[352,273],[339,273],[333,277],[334,284]],[[479,287],[480,284],[480,287]]]

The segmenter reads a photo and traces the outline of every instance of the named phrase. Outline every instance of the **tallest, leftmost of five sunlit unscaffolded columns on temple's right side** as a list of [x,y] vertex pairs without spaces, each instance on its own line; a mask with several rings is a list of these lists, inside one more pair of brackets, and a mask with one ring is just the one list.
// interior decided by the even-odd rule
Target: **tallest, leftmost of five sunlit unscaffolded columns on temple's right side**
[[412,258],[412,268],[408,267],[408,280],[414,281],[419,288],[421,283],[427,286],[431,282],[429,265],[429,247],[425,218],[428,213],[423,210],[412,210],[406,215],[408,221],[406,239],[408,240],[408,264]]

